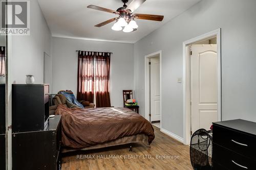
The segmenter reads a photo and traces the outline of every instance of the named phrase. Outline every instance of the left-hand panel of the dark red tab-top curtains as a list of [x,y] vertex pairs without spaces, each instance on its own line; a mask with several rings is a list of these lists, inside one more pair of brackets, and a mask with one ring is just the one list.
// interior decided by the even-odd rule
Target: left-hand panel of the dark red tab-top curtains
[[77,100],[94,99],[94,53],[78,52]]

